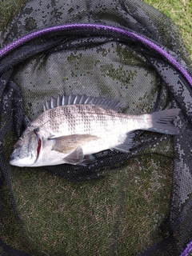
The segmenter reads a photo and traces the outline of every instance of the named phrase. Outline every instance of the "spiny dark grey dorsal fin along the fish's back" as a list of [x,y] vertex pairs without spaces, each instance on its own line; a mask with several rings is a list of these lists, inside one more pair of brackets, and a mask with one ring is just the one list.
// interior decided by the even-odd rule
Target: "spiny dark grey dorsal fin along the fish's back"
[[83,95],[58,95],[57,98],[51,97],[50,100],[46,100],[43,104],[43,111],[53,109],[57,106],[74,105],[74,104],[90,104],[95,106],[102,106],[103,108],[121,111],[125,108],[125,104],[111,98],[92,97]]

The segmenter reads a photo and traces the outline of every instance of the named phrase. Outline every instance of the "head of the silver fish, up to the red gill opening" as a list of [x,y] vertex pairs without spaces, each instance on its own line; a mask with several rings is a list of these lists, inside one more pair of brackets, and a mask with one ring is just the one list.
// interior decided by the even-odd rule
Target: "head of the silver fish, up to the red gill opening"
[[14,151],[10,155],[12,166],[33,166],[42,150],[42,138],[39,128],[30,126],[15,143]]

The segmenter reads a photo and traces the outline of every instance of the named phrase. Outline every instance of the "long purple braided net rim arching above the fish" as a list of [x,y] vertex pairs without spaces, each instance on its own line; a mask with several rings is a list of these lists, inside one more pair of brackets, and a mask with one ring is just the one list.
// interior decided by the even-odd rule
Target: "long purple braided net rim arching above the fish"
[[114,32],[116,34],[122,34],[123,36],[127,36],[127,38],[132,38],[134,40],[137,40],[138,42],[142,42],[144,45],[149,46],[151,49],[157,51],[159,54],[161,54],[164,58],[166,58],[172,66],[174,66],[177,70],[182,73],[182,75],[186,78],[186,80],[190,83],[192,86],[192,77],[187,72],[187,70],[166,50],[163,50],[160,46],[155,44],[154,42],[151,42],[148,38],[144,38],[141,35],[138,35],[130,30],[123,30],[118,27],[114,26],[106,26],[106,25],[100,25],[100,24],[67,24],[67,25],[61,25],[61,26],[51,26],[42,30],[38,30],[35,32],[32,32],[31,34],[27,34],[26,36],[19,38],[15,40],[14,42],[11,42],[8,46],[5,46],[0,50],[0,58],[2,58],[4,55],[9,53],[11,50],[14,50],[18,46],[21,46],[23,43],[28,42],[34,38],[38,38],[39,36],[42,36],[43,34],[49,34],[51,32],[57,32],[62,30],[85,30],[85,29],[93,29],[93,30],[109,30],[111,32]]

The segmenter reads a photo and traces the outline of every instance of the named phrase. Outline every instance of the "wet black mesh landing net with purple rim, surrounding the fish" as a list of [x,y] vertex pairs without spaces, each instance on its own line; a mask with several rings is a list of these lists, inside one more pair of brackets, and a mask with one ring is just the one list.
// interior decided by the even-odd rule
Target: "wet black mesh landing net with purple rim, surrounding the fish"
[[[174,22],[139,0],[23,2],[0,33],[0,254],[190,255],[192,72]],[[130,153],[87,166],[10,166],[58,94],[113,98],[127,114],[177,107],[179,134],[138,130]]]

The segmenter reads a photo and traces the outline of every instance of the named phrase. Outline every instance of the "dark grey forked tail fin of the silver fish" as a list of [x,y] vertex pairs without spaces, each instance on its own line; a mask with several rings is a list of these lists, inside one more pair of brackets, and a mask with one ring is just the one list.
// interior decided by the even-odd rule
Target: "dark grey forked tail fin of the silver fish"
[[149,130],[162,134],[178,134],[178,127],[174,125],[173,121],[179,112],[180,109],[170,109],[152,113],[152,127]]

